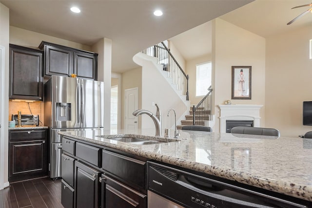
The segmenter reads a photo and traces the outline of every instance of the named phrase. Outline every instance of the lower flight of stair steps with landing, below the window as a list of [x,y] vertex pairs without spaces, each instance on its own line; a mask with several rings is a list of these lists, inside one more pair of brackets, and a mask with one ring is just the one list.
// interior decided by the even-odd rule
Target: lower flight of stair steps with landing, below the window
[[[185,120],[181,120],[181,125],[177,125],[177,129],[181,129],[182,126],[193,125],[193,106],[191,106],[189,115],[185,115]],[[205,110],[202,107],[197,109],[200,112],[199,115],[195,115],[195,125],[207,126],[207,121],[212,120],[211,110]]]

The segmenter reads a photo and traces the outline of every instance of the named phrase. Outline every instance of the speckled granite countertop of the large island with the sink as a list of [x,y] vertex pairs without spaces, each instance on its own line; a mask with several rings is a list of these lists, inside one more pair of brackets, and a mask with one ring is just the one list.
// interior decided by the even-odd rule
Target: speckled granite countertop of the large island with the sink
[[176,142],[134,145],[99,137],[111,134],[104,130],[59,134],[312,201],[312,139],[180,131]]

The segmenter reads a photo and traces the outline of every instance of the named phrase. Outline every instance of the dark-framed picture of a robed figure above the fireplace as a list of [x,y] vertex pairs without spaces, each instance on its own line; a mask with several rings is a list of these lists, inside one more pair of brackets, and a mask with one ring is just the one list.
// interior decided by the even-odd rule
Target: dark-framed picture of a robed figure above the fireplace
[[232,66],[232,99],[252,99],[251,66]]

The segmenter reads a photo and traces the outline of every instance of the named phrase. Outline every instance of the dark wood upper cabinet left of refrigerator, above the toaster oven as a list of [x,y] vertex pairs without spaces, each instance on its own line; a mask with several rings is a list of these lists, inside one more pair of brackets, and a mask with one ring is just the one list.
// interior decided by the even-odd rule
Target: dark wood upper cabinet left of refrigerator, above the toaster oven
[[10,99],[42,100],[42,51],[10,44]]

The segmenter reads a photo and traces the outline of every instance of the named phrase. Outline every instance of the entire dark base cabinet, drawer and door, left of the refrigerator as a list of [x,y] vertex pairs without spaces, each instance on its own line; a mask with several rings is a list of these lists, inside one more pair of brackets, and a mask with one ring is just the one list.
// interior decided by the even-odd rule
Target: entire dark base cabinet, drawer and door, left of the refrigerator
[[45,176],[47,130],[9,130],[9,182]]

